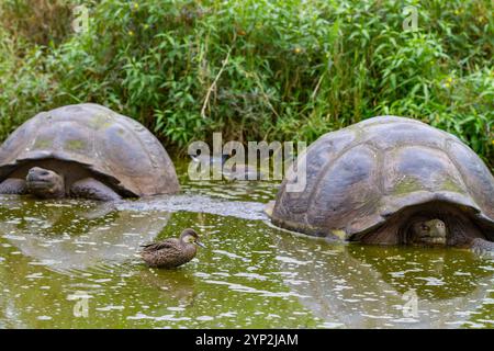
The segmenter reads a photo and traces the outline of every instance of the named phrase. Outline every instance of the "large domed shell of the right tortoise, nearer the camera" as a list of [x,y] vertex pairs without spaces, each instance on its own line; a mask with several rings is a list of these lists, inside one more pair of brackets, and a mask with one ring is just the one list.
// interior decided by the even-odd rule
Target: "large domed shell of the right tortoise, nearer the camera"
[[411,206],[448,203],[468,213],[494,239],[494,178],[459,138],[416,120],[379,116],[328,133],[281,184],[273,224],[314,236],[358,240]]

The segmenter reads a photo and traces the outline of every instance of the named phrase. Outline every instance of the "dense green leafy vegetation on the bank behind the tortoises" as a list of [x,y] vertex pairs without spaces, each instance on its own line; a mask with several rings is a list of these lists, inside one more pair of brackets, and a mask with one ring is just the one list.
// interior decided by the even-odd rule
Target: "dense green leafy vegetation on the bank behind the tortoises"
[[[89,30],[74,33],[82,2]],[[402,27],[406,5],[417,31]],[[494,166],[491,0],[0,7],[0,138],[38,111],[85,101],[137,118],[177,150],[217,131],[312,141],[396,114],[458,135]]]

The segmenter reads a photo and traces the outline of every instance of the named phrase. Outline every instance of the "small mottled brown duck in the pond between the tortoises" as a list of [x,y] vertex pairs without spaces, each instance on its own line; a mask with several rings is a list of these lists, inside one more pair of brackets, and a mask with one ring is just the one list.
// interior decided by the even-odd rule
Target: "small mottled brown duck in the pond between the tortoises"
[[142,245],[141,257],[151,268],[172,269],[191,261],[198,252],[198,246],[205,248],[198,233],[192,228],[184,229],[180,237]]

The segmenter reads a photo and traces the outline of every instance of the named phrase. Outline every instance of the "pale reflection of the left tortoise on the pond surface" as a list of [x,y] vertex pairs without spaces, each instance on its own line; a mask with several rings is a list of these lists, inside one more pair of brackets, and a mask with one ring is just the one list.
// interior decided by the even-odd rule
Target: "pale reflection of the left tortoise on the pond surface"
[[0,235],[22,254],[59,271],[112,265],[133,258],[138,246],[151,241],[166,226],[166,212],[112,212],[86,219],[98,206],[70,200],[33,202],[2,197]]

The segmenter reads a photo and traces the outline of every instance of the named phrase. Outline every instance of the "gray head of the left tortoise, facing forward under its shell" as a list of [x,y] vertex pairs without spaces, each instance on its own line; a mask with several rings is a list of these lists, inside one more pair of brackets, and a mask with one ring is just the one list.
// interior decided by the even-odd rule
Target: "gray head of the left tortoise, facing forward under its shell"
[[65,195],[64,177],[41,167],[33,167],[25,177],[31,194],[41,199],[58,199]]

